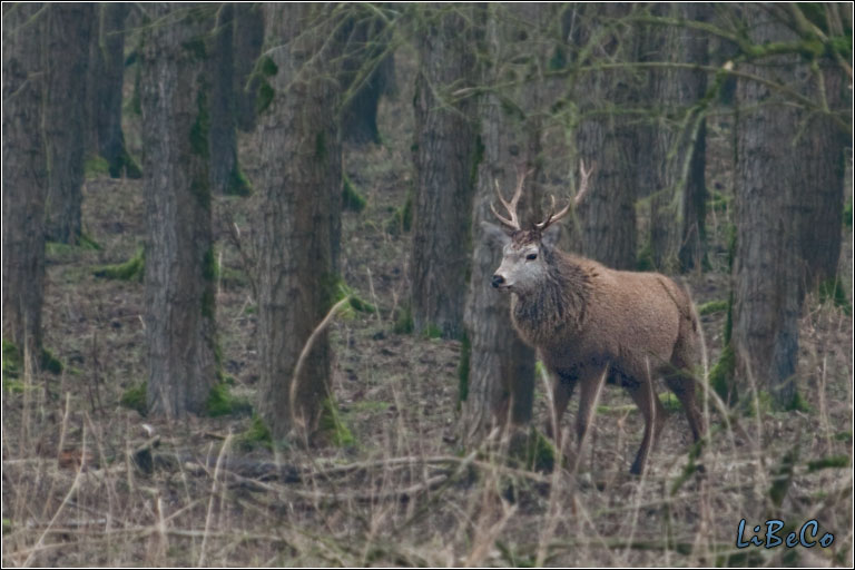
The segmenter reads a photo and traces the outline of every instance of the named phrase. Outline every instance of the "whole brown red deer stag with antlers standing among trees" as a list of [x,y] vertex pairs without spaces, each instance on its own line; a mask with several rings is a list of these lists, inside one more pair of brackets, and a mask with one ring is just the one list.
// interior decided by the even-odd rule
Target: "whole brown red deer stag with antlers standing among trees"
[[577,435],[581,444],[603,380],[620,384],[645,419],[645,435],[631,473],[641,473],[650,446],[665,422],[653,379],[661,376],[679,399],[695,441],[705,432],[695,400],[691,368],[699,356],[699,325],[689,295],[658,273],[619,272],[554,247],[557,226],[588,191],[591,170],[581,165],[576,199],[531,229],[522,229],[517,205],[525,173],[520,173],[511,202],[499,195],[510,217],[491,208],[504,226],[484,223],[502,244],[502,264],[492,285],[511,293],[511,320],[524,342],[539,350],[554,377],[552,422],[547,431],[560,444],[561,415],[579,385]]

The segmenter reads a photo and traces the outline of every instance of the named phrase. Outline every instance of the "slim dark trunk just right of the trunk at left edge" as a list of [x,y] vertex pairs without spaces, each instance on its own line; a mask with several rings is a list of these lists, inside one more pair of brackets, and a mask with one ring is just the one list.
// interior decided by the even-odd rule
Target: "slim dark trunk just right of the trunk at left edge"
[[86,78],[95,4],[51,3],[45,37],[47,89],[45,142],[48,156],[48,239],[77,244],[83,186]]

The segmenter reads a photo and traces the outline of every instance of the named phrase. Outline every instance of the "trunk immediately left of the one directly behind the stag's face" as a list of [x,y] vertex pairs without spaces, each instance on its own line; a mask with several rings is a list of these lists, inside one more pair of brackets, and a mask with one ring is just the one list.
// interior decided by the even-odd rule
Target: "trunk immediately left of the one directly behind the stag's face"
[[444,337],[463,332],[480,159],[473,97],[453,94],[478,81],[474,22],[482,12],[468,4],[423,7],[417,33],[411,307],[417,333]]

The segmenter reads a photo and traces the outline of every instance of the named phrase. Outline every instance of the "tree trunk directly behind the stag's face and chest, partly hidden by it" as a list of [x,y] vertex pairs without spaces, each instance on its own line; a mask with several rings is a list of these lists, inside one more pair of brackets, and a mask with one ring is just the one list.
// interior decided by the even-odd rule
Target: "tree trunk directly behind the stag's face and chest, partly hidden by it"
[[[542,4],[491,4],[487,21],[485,69],[488,85],[515,76],[532,78],[546,58],[537,41],[527,41],[528,27],[544,26],[548,10]],[[524,39],[521,39],[524,38]],[[524,58],[521,56],[529,56]],[[524,61],[523,63],[514,61]],[[517,184],[518,168],[531,169],[520,202],[520,219],[529,223],[541,197],[541,131],[538,81],[495,94],[479,101],[480,141],[483,159],[478,164],[478,183],[472,215],[472,277],[465,305],[464,362],[460,370],[460,397],[464,438],[470,443],[488,434],[494,425],[525,425],[531,420],[534,395],[534,351],[520,341],[510,321],[510,296],[490,286],[502,259],[501,247],[490,243],[482,222],[498,224],[490,210],[497,204],[498,181],[507,198]],[[507,102],[524,104],[531,115],[514,112]],[[523,105],[521,105],[522,107]],[[501,212],[501,207],[497,205]]]

